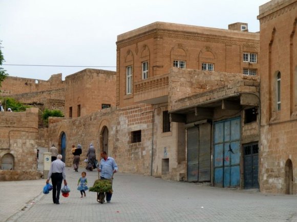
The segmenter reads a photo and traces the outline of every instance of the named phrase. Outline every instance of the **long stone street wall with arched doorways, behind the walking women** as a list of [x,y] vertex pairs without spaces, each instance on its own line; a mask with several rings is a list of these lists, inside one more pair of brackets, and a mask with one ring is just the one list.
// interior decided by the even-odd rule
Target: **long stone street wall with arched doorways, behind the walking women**
[[[51,118],[48,146],[51,143],[58,144],[60,152],[60,136],[65,132],[67,166],[72,166],[72,144],[82,145],[82,161],[89,144],[93,143],[97,159],[100,159],[102,131],[107,127],[108,154],[115,158],[120,171],[144,175],[152,173],[153,176],[161,177],[162,159],[170,158],[169,168],[172,175],[167,175],[167,178],[179,180],[179,174],[185,171],[185,165],[183,163],[183,168],[178,168],[177,125],[173,126],[172,132],[162,133],[162,111],[166,109],[166,104],[156,107],[141,104],[122,109],[104,109],[75,119]],[[132,132],[138,130],[141,130],[141,142],[133,143]],[[164,147],[167,149],[166,157],[164,157]],[[151,168],[152,162],[153,168]],[[85,166],[83,162],[81,162],[82,166]]]

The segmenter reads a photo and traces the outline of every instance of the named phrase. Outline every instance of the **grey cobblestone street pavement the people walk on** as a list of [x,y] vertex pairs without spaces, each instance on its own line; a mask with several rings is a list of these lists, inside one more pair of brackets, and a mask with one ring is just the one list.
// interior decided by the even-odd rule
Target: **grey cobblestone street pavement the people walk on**
[[[114,176],[111,203],[99,204],[95,192],[87,191],[87,197],[80,198],[76,189],[80,172],[67,168],[71,192],[69,198],[60,196],[60,205],[52,203],[52,193],[40,194],[7,221],[297,221],[296,195],[231,190],[120,172]],[[98,172],[87,172],[87,178],[92,186]],[[41,191],[43,182],[41,187],[38,182],[32,188]]]

